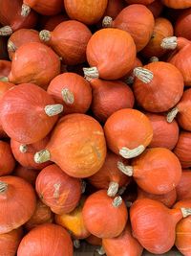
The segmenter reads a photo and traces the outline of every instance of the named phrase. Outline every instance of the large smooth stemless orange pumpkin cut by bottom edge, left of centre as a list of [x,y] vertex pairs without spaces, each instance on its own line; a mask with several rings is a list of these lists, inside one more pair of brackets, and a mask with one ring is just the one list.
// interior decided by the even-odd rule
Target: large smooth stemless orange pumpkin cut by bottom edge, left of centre
[[[56,239],[55,239],[56,238]],[[73,243],[69,233],[52,223],[33,228],[21,241],[17,255],[32,256],[73,256]]]

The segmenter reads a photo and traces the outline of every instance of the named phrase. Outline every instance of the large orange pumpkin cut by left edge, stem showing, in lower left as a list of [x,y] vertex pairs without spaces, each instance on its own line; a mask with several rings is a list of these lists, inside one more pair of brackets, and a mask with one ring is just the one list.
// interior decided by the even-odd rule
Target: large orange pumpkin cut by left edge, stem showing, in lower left
[[1,176],[0,205],[0,234],[3,234],[21,226],[32,217],[36,206],[32,185],[20,177]]

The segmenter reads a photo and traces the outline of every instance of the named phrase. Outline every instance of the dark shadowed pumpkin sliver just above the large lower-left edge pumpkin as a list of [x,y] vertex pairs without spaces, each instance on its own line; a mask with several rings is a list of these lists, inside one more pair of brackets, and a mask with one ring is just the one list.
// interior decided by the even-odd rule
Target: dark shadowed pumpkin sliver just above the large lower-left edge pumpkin
[[25,179],[26,181],[31,183],[32,186],[34,186],[38,173],[39,173],[38,170],[27,169],[26,167],[17,165],[16,168],[14,169],[12,175],[22,177],[23,179]]

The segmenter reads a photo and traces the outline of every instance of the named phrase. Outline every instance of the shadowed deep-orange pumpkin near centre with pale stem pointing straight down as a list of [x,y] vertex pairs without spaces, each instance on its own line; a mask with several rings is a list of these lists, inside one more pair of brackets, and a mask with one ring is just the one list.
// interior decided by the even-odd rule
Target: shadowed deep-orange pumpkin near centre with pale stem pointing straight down
[[107,189],[109,197],[115,197],[120,187],[128,185],[130,178],[122,174],[117,168],[117,162],[123,161],[121,156],[108,151],[101,169],[88,178],[96,189]]

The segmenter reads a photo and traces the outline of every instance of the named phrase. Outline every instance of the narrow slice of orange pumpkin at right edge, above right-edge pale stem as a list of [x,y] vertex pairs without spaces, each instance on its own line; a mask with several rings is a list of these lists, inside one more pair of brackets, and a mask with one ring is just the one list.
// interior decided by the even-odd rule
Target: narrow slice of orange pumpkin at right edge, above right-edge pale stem
[[191,173],[190,170],[183,170],[180,178],[180,182],[176,187],[177,190],[177,200],[184,200],[191,198]]

